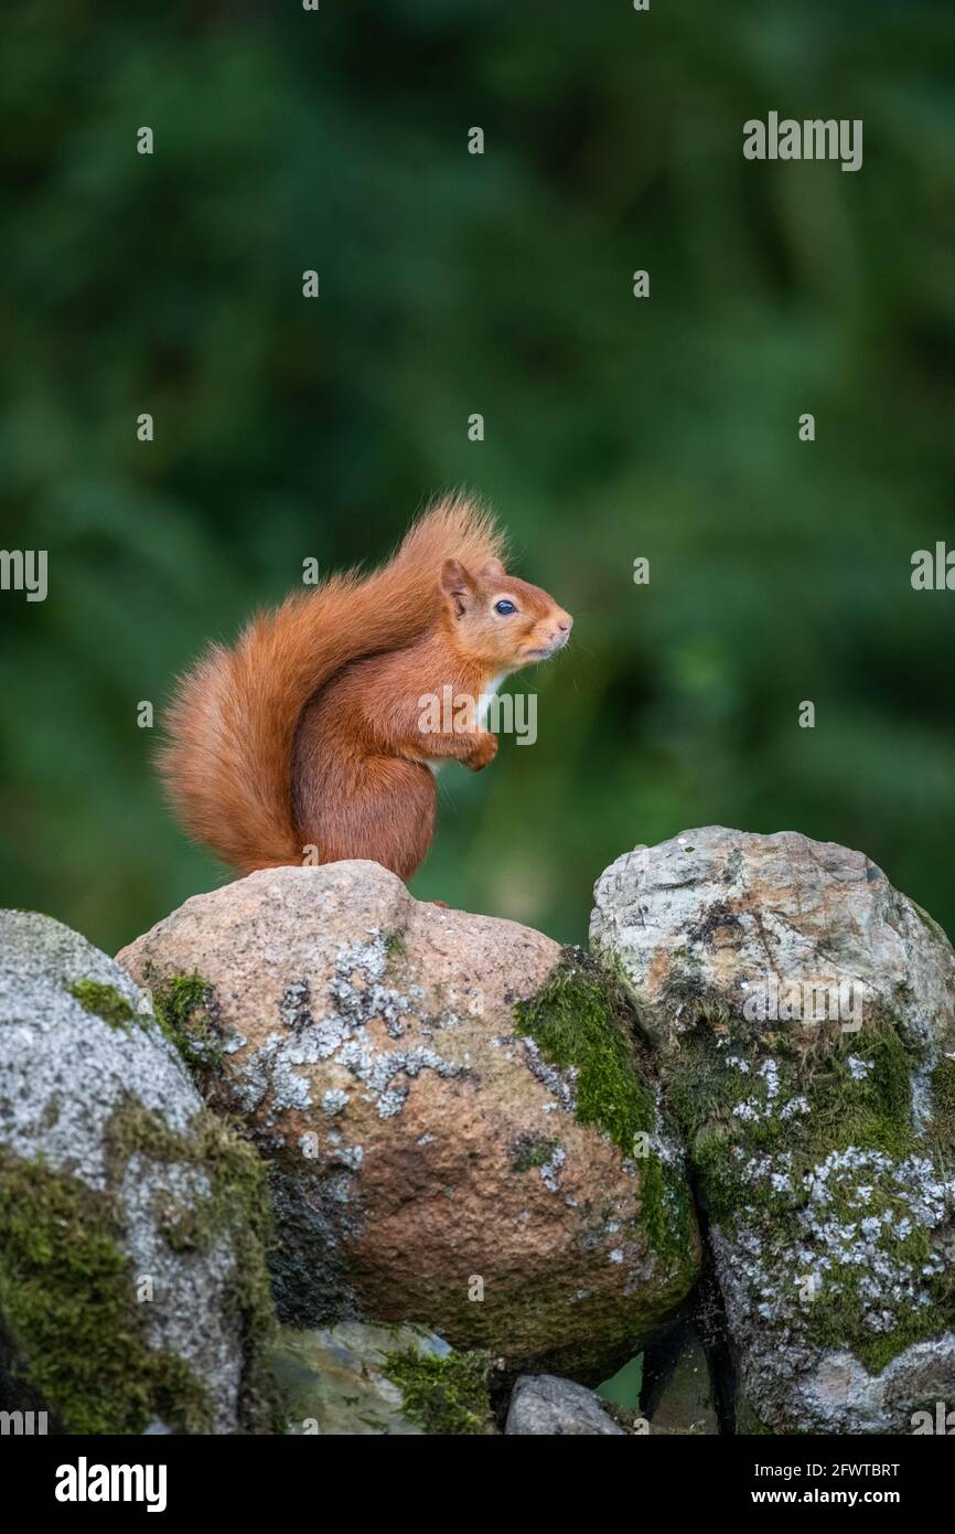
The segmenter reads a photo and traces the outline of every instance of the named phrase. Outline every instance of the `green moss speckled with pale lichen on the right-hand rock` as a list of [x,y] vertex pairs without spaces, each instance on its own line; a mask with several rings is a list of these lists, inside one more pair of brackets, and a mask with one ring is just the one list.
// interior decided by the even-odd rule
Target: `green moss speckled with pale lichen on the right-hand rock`
[[[701,1203],[728,1235],[745,1229],[757,1238],[754,1302],[789,1318],[820,1348],[849,1348],[871,1371],[955,1321],[955,1275],[926,1272],[930,1233],[914,1186],[944,1177],[934,1144],[955,1103],[955,1072],[935,1066],[937,1123],[923,1135],[911,1112],[917,1066],[888,1019],[861,1032],[816,1035],[791,1025],[760,1035],[733,1020],[720,1037],[699,1025],[679,1040],[671,1066],[670,1103]],[[812,1203],[823,1164],[825,1197]],[[858,1232],[840,1238],[852,1243],[854,1259],[838,1259],[835,1229]],[[888,1330],[872,1325],[871,1264],[858,1262],[855,1239],[872,1244],[886,1267],[886,1296],[901,1295],[886,1298]],[[809,1296],[812,1273],[819,1287]],[[906,1298],[909,1285],[930,1302]]]

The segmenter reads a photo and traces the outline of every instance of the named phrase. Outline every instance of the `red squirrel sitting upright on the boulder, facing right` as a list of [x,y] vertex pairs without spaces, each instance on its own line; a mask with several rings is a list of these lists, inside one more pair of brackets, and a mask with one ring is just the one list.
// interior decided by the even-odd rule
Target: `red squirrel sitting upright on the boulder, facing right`
[[[483,727],[422,730],[425,695],[477,700],[546,660],[573,620],[507,575],[474,502],[425,512],[369,575],[334,575],[213,644],[179,680],[161,772],[187,830],[242,873],[369,858],[409,879],[437,810],[435,770],[494,761]],[[448,721],[443,721],[448,723]]]

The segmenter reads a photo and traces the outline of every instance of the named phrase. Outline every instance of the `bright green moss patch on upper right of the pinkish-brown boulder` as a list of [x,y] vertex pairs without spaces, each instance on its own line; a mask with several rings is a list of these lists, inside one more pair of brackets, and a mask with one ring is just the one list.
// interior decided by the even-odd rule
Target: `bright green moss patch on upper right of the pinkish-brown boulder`
[[544,1060],[576,1071],[575,1115],[596,1124],[633,1155],[638,1134],[656,1129],[656,1098],[644,1081],[630,1012],[616,982],[578,950],[529,1002],[515,1008],[517,1031],[535,1040]]

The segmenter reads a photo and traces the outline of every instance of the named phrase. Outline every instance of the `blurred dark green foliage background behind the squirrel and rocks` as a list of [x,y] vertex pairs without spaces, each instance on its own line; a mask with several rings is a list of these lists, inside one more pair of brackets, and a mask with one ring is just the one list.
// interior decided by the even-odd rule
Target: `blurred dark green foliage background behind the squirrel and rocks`
[[[955,931],[955,594],[909,583],[955,543],[950,3],[20,0],[0,43],[0,543],[51,561],[0,594],[0,902],[113,948],[224,877],[136,704],[463,483],[576,627],[418,894],[581,939],[616,854],[722,822]],[[863,169],[743,161],[771,109]]]

